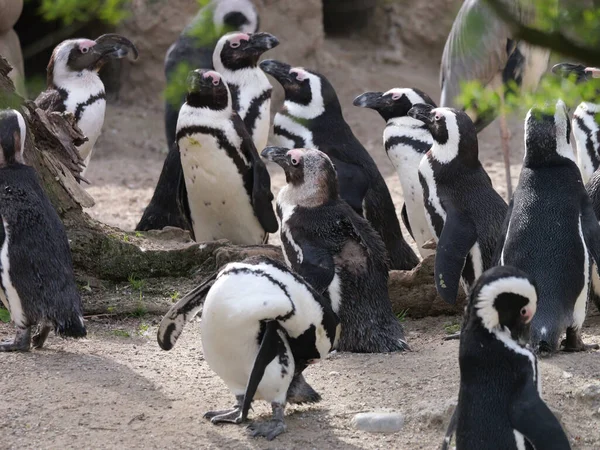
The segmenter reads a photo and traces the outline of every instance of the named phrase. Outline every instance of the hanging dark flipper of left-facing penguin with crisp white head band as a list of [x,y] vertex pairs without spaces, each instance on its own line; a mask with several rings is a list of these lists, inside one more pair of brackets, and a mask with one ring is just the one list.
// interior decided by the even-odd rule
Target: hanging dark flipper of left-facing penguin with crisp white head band
[[435,286],[451,305],[456,303],[458,286],[467,256],[477,242],[471,219],[453,207],[446,207],[446,221],[435,255]]

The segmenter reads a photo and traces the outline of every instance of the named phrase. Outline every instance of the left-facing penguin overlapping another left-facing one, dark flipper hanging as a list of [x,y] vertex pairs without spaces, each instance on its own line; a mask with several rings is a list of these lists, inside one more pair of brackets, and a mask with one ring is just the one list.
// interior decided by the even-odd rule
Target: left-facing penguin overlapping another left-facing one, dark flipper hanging
[[419,180],[437,240],[436,287],[454,303],[459,281],[468,294],[492,267],[507,206],[479,162],[477,132],[466,113],[421,104],[408,115],[427,124],[434,141],[419,166]]

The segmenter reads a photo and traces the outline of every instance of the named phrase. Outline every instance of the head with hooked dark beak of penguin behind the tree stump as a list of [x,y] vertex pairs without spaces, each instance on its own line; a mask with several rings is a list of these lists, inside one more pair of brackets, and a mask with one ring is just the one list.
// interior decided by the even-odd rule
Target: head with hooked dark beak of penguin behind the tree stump
[[124,58],[130,53],[137,59],[133,42],[118,34],[104,34],[94,41],[63,41],[52,52],[46,68],[48,86],[62,86],[84,71],[97,72],[109,59]]

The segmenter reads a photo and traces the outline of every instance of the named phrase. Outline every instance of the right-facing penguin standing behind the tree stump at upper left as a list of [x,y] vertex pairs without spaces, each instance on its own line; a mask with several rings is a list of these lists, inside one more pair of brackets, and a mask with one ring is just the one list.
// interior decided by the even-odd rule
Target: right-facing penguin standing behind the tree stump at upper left
[[47,89],[35,104],[44,111],[68,112],[87,141],[77,147],[83,160],[85,175],[94,145],[102,131],[106,109],[106,93],[98,71],[109,59],[138,57],[133,43],[118,34],[104,34],[95,41],[69,39],[56,46],[46,69]]

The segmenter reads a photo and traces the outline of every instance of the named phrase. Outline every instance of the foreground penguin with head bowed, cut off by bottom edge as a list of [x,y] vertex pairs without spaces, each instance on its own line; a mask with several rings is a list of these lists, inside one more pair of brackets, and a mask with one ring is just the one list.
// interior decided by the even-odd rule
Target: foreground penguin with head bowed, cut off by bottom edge
[[537,358],[527,347],[537,307],[532,277],[492,267],[477,280],[465,311],[458,405],[442,449],[456,434],[457,450],[570,449],[542,400]]

